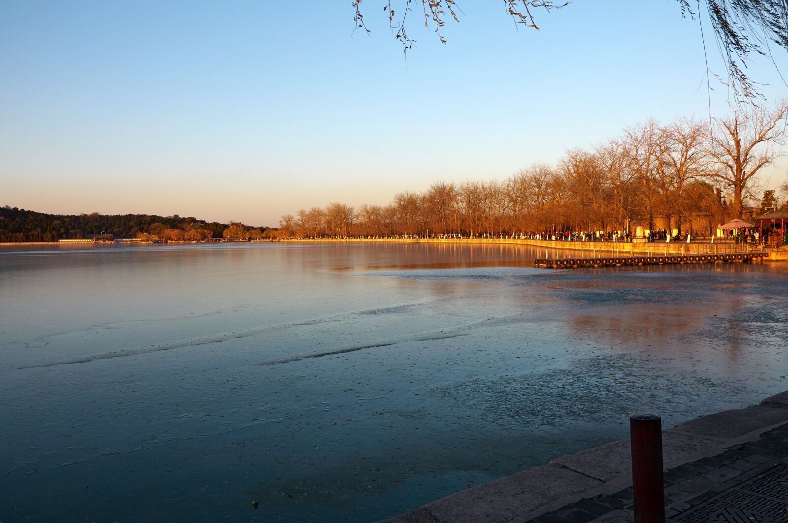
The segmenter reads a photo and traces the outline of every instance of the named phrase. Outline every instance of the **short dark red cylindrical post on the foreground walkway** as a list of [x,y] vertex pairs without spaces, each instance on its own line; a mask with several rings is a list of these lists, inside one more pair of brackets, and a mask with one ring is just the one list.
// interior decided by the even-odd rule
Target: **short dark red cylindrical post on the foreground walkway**
[[630,437],[635,523],[663,523],[662,420],[650,412],[632,414]]

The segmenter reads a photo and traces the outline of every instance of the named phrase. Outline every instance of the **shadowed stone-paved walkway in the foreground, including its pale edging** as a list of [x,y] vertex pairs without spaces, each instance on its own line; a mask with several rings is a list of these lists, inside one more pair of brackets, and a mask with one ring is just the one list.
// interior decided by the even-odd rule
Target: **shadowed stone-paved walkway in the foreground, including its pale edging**
[[[788,391],[663,432],[667,521],[788,521]],[[556,458],[387,523],[633,521],[630,442]]]

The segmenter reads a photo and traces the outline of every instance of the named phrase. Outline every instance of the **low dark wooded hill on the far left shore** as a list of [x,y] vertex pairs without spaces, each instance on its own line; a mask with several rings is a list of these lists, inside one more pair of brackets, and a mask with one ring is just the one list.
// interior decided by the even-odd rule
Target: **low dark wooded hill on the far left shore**
[[[250,230],[251,229],[251,230]],[[111,234],[116,238],[159,236],[161,239],[204,239],[228,236],[228,224],[195,217],[155,214],[47,214],[17,207],[0,207],[0,242],[54,242],[58,239],[88,238]],[[243,234],[257,236],[266,228],[247,225]],[[169,238],[168,238],[169,236]],[[232,236],[236,236],[233,234]]]

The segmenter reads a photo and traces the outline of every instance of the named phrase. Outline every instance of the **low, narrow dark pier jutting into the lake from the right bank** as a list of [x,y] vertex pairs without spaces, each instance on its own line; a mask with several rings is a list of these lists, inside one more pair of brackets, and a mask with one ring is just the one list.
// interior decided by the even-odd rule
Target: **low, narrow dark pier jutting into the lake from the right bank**
[[537,258],[534,267],[544,269],[586,269],[629,265],[686,265],[704,263],[752,263],[763,261],[769,253],[671,254],[667,256],[603,256],[600,258]]

